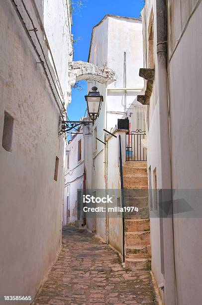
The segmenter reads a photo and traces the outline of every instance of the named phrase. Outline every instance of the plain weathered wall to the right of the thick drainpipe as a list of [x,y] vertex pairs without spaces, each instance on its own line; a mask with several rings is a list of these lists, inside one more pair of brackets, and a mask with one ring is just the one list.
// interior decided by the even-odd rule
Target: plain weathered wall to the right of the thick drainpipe
[[[192,16],[198,1],[183,1],[181,7],[176,7],[174,1],[168,2],[172,185],[174,189],[197,190],[202,189],[202,52],[199,51],[202,48],[202,2]],[[177,42],[177,48],[172,53]],[[195,200],[201,202],[198,191],[195,191],[192,199],[188,193],[184,197],[194,209]],[[200,232],[201,218],[184,218],[183,215],[182,218],[174,218],[179,305],[197,305],[202,300]]]

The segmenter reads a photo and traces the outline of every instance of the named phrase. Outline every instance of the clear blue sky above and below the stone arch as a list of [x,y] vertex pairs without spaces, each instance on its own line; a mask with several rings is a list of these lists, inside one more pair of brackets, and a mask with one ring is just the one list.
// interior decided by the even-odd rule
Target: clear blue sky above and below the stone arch
[[[73,11],[74,60],[88,61],[89,46],[93,27],[106,15],[125,17],[140,16],[144,0],[72,0]],[[77,3],[83,5],[78,7]],[[73,4],[74,5],[74,4]],[[83,90],[72,90],[72,103],[68,106],[68,117],[71,121],[79,121],[86,111],[84,95],[87,93],[86,81],[82,81]]]

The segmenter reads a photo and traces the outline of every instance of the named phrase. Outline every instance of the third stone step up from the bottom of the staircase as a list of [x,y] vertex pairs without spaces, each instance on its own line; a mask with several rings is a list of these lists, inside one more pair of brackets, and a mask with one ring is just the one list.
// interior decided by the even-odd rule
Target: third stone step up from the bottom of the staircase
[[125,232],[125,245],[126,247],[150,245],[150,231]]

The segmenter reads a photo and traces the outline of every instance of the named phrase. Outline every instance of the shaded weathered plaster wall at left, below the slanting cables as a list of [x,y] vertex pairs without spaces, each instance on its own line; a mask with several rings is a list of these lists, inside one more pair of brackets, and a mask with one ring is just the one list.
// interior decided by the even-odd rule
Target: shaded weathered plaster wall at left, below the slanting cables
[[[59,6],[52,2],[59,14]],[[44,16],[43,1],[37,4]],[[43,39],[32,2],[27,0],[26,5]],[[18,8],[23,12],[20,5]],[[23,17],[28,26],[24,12]],[[50,22],[55,36],[60,34],[56,21],[57,25],[63,22]],[[43,40],[42,45],[47,54]],[[66,58],[64,51],[54,56],[58,61]],[[34,296],[61,246],[63,137],[58,136],[58,108],[36,62],[11,1],[0,1],[0,141],[4,111],[14,119],[11,152],[0,143],[1,296]]]

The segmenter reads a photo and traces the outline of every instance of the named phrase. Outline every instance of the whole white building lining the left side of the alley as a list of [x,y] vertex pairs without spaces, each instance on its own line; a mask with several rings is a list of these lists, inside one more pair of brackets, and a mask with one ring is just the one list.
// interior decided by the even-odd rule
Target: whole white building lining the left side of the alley
[[0,1],[0,295],[34,297],[61,248],[72,42],[68,1],[24,3]]

